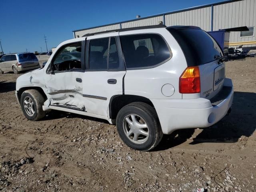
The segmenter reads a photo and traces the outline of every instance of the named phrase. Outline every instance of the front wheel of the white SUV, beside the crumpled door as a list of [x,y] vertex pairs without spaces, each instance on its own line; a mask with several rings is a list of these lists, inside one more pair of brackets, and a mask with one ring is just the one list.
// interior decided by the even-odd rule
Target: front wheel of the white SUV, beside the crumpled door
[[[38,92],[38,90],[30,89],[22,93],[20,97],[20,106],[28,120],[38,121],[45,116],[45,112],[42,108],[44,101],[44,97],[42,96],[42,94],[40,94],[40,92]],[[29,103],[31,113],[28,109],[29,105],[26,103]]]

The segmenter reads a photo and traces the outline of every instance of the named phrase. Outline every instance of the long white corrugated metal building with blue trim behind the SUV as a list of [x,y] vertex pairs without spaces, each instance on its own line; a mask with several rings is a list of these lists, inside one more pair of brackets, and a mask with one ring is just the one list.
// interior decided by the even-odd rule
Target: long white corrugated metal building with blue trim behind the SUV
[[161,21],[166,26],[192,25],[198,26],[205,31],[247,26],[249,31],[230,32],[229,46],[256,47],[256,0],[227,0],[118,23],[74,30],[73,34],[74,38],[77,38],[88,33],[157,25]]

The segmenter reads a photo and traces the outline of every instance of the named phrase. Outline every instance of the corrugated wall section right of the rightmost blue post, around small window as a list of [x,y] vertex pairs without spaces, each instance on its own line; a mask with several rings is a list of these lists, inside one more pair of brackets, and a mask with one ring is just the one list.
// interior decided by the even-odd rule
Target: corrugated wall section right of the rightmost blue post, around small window
[[[213,6],[213,30],[256,26],[256,0],[242,0]],[[255,30],[255,28],[254,28]],[[256,41],[253,37],[240,37],[240,32],[230,32],[230,42]],[[255,46],[252,45],[244,45]]]

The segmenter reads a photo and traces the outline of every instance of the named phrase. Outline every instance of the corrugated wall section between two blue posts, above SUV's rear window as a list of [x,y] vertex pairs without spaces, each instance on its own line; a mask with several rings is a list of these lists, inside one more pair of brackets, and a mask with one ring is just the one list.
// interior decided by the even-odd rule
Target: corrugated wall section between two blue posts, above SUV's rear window
[[166,26],[192,25],[203,30],[211,30],[211,7],[199,8],[185,12],[178,12],[165,15]]

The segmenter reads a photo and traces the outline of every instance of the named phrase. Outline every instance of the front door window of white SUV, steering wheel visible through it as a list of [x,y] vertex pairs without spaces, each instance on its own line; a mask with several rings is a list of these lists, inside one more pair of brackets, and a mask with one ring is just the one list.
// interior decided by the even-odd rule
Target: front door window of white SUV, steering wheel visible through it
[[64,46],[54,57],[54,72],[81,69],[82,42]]

